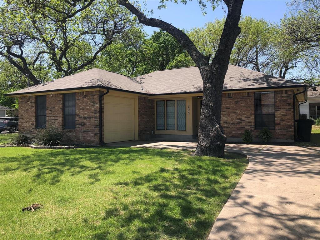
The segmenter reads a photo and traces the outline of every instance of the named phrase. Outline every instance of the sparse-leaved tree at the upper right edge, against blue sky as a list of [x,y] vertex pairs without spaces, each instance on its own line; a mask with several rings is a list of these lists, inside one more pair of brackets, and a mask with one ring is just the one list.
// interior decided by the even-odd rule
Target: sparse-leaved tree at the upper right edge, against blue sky
[[292,79],[317,86],[320,78],[320,1],[292,0],[288,7],[289,11],[281,21],[287,42],[284,48],[294,46],[301,50],[297,54],[299,58],[291,64],[292,69],[299,69],[294,69]]

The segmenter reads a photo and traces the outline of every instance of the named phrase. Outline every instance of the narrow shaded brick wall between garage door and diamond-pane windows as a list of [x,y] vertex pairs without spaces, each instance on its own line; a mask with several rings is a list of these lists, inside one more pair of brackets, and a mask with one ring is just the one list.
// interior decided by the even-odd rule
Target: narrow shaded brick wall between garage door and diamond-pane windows
[[139,140],[148,140],[155,130],[155,101],[147,97],[138,98]]

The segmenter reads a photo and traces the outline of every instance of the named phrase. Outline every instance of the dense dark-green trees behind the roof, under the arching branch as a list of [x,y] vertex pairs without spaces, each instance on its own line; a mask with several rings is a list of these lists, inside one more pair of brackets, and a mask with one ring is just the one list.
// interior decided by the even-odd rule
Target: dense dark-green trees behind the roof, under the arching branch
[[135,38],[118,41],[101,52],[96,66],[128,76],[139,76],[168,68],[194,66],[186,50],[170,34],[160,30],[149,38],[136,29]]

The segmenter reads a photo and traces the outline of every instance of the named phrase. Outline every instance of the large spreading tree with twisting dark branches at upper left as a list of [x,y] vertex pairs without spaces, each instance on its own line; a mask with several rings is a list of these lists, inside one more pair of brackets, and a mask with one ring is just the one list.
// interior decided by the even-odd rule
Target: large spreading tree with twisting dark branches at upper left
[[39,84],[39,66],[54,78],[76,73],[135,25],[113,0],[11,0],[0,8],[0,55]]

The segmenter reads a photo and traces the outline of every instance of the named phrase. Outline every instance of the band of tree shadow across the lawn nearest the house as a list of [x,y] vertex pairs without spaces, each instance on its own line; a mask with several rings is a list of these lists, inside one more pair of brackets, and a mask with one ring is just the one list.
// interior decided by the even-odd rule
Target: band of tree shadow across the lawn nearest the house
[[[31,149],[30,149],[31,150]],[[88,174],[91,183],[100,181],[101,174],[113,173],[115,164],[130,165],[138,159],[150,160],[154,157],[179,159],[182,151],[166,151],[149,148],[78,148],[78,149],[32,149],[31,153],[21,151],[18,157],[6,157],[2,154],[2,173],[14,171],[32,172],[36,170],[35,180],[49,181],[55,185],[60,177]],[[46,178],[49,176],[50,178]]]

